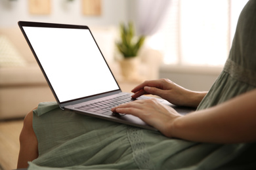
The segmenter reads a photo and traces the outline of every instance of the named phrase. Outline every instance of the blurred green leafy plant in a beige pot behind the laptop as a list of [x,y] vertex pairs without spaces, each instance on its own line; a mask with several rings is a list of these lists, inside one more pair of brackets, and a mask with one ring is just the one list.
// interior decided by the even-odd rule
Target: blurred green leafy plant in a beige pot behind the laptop
[[135,36],[135,28],[132,22],[129,22],[128,25],[120,24],[119,31],[121,40],[116,42],[116,46],[123,56],[123,59],[119,61],[121,73],[126,79],[136,79],[139,65],[138,54],[144,44],[145,37]]

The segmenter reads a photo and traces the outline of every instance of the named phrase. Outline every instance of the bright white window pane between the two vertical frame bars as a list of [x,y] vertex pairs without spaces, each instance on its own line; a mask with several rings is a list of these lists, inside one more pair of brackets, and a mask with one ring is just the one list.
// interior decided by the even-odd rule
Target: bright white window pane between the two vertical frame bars
[[229,48],[228,13],[228,1],[181,1],[182,63],[224,63]]

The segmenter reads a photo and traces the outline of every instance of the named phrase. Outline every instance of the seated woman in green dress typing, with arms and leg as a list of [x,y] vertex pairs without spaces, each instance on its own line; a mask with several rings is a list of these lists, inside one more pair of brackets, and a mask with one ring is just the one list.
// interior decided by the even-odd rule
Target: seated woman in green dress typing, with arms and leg
[[150,131],[63,111],[40,103],[20,134],[18,168],[40,169],[255,169],[256,1],[245,5],[230,56],[209,92],[170,80],[146,81],[133,97],[155,94],[175,105],[198,107],[182,116],[154,99],[112,111],[139,116]]

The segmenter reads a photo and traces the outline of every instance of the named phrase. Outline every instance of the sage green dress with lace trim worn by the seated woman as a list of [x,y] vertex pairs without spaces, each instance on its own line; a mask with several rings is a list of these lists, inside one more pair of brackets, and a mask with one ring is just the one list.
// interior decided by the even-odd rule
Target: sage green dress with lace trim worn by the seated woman
[[[240,15],[223,72],[198,110],[255,87],[256,0],[251,0]],[[60,110],[55,102],[33,111],[33,130],[39,157],[29,169],[256,169],[255,143],[169,139],[158,131]]]

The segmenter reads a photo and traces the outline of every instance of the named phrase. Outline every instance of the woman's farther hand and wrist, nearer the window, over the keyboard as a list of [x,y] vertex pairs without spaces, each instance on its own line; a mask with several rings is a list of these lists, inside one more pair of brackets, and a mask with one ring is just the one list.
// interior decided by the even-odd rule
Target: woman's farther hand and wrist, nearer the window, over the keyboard
[[173,105],[198,107],[207,92],[193,92],[182,88],[169,79],[147,80],[135,87],[131,97],[137,98],[140,95],[152,94],[169,101]]

